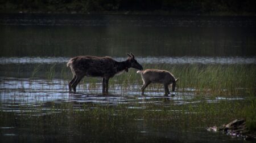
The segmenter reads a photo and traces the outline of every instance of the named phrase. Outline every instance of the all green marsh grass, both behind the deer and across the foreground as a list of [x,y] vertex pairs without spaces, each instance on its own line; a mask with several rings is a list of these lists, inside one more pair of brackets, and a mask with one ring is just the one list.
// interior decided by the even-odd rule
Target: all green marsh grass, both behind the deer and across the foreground
[[[69,69],[65,68],[58,71],[58,66],[60,65],[51,65],[47,68],[35,67],[32,77],[36,77],[38,73],[42,72],[40,70],[44,70],[47,71],[46,77],[57,76],[64,79],[64,83],[61,84],[67,84],[68,79],[72,77],[71,73]],[[17,107],[19,112],[6,112],[0,109],[0,127],[6,125],[16,128],[27,127],[38,135],[45,133],[63,135],[58,129],[65,128],[78,135],[81,132],[94,136],[98,136],[99,133],[109,133],[109,136],[116,137],[121,134],[127,138],[130,137],[129,135],[139,136],[135,133],[138,132],[138,127],[141,124],[145,127],[152,127],[155,131],[164,129],[168,131],[170,128],[193,130],[226,124],[237,118],[245,118],[246,124],[251,130],[256,128],[254,87],[256,67],[254,64],[144,64],[143,67],[170,71],[175,77],[180,77],[179,83],[177,83],[179,96],[183,96],[183,92],[191,89],[191,92],[195,93],[195,97],[185,99],[182,104],[167,98],[161,98],[159,102],[152,102],[146,97],[142,102],[134,98],[134,101],[117,105],[72,101],[36,103],[37,106],[34,107],[24,104]],[[54,81],[47,80],[50,83]],[[121,86],[122,94],[126,94],[133,91],[135,86],[142,85],[142,80],[136,70],[129,70],[127,73],[110,79],[109,84],[111,90],[115,90],[117,85]],[[79,88],[98,90],[101,86],[100,78],[86,77]],[[63,88],[67,88],[67,86]],[[146,90],[162,91],[163,86],[152,84]],[[152,93],[150,92],[150,94]],[[243,99],[218,100],[216,97],[242,97]],[[215,102],[209,102],[209,100]],[[112,134],[113,132],[117,134]],[[67,132],[64,131],[64,133]],[[118,133],[120,134],[118,135]]]

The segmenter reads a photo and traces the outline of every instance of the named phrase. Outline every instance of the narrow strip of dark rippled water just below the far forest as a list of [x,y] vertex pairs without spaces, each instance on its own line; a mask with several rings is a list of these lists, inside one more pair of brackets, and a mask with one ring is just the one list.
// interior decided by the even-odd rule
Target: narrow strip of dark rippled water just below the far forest
[[0,25],[255,28],[256,16],[0,13]]

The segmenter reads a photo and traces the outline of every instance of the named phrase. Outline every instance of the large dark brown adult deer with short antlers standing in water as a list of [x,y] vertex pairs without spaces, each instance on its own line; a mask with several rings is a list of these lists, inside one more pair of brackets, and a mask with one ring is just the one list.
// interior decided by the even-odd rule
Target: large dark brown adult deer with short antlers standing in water
[[67,67],[71,68],[73,79],[69,82],[69,92],[76,92],[76,86],[84,76],[102,77],[102,93],[108,94],[108,83],[110,77],[119,75],[129,68],[143,70],[141,64],[137,62],[134,55],[127,54],[129,57],[123,62],[117,62],[111,57],[78,56],[71,58]]

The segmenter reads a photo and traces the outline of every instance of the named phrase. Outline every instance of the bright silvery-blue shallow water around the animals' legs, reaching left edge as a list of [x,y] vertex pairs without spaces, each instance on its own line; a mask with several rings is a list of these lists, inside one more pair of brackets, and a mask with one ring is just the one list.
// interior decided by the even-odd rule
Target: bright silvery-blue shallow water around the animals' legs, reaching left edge
[[[172,100],[174,104],[192,103],[191,99],[195,98],[194,89],[187,88],[179,92],[172,92],[168,97],[164,96],[163,89],[151,87],[145,94],[141,96],[141,85],[128,85],[127,88],[132,89],[123,91],[122,85],[115,84],[110,88],[110,94],[104,96],[101,94],[101,83],[97,83],[97,88],[88,89],[90,83],[81,83],[77,93],[68,92],[68,81],[53,79],[16,79],[10,77],[0,78],[1,105],[12,109],[16,105],[37,105],[46,102],[75,102],[75,103],[96,103],[96,104],[128,104],[128,103],[164,103],[164,101]],[[243,97],[216,97],[209,99],[208,102],[220,102],[222,100],[242,100]],[[193,101],[196,103],[196,101]],[[7,110],[2,108],[2,110]]]

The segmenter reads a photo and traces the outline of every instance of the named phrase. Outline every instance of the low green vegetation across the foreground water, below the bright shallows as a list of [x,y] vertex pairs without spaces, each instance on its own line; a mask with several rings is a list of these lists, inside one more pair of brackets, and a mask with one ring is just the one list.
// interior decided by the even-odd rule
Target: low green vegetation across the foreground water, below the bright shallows
[[[249,128],[255,129],[255,98],[208,103],[201,97],[199,101],[185,105],[174,105],[171,101],[162,105],[152,104],[150,101],[116,106],[88,103],[82,104],[79,109],[72,102],[51,103],[47,110],[40,106],[31,109],[27,105],[21,106],[20,112],[0,111],[0,126],[9,124],[19,128],[30,127],[36,135],[46,133],[56,137],[67,133],[58,131],[59,128],[67,127],[74,136],[96,136],[102,133],[102,136],[109,136],[109,140],[119,140],[120,138],[115,138],[118,133],[129,136],[138,132],[138,135],[133,136],[139,137],[146,128],[138,126],[150,127],[146,129],[147,132],[163,132],[163,129],[168,128],[193,131],[196,128],[224,124],[236,118],[245,118]],[[26,112],[26,108],[30,109],[29,112]],[[129,137],[126,140],[130,140]]]

